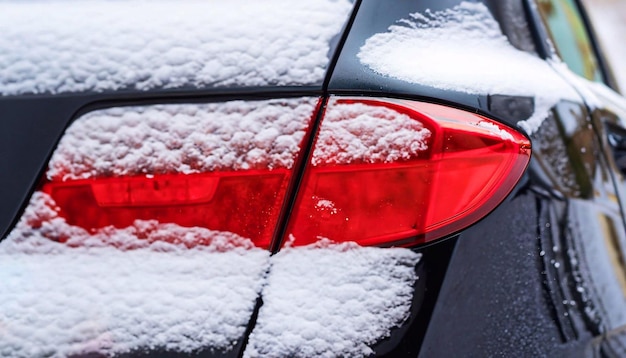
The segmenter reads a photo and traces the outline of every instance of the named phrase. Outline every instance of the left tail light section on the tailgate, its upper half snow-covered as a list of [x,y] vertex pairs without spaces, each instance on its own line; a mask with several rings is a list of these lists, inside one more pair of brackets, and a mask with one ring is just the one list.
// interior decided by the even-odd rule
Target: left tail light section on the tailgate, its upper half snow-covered
[[68,225],[93,234],[156,220],[269,247],[317,106],[309,98],[92,112],[65,133],[40,191]]

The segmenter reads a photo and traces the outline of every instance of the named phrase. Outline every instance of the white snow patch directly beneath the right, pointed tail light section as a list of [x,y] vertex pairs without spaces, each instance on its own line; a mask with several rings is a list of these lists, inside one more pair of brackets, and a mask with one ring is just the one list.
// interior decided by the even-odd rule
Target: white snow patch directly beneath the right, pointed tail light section
[[408,249],[355,244],[287,248],[272,257],[244,357],[361,357],[409,315]]

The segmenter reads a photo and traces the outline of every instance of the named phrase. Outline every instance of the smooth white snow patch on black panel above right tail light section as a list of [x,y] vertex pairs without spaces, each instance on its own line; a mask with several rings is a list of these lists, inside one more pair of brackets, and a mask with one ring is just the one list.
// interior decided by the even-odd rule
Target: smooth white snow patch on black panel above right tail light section
[[529,134],[560,99],[577,98],[549,63],[511,45],[481,3],[411,14],[367,39],[358,57],[373,71],[410,83],[534,97],[535,112],[519,123]]

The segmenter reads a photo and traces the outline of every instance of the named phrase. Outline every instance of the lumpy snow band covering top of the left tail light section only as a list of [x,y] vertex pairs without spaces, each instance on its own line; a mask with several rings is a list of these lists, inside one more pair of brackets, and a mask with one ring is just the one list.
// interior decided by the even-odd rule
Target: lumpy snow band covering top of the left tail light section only
[[49,179],[291,168],[317,99],[116,107],[78,118]]

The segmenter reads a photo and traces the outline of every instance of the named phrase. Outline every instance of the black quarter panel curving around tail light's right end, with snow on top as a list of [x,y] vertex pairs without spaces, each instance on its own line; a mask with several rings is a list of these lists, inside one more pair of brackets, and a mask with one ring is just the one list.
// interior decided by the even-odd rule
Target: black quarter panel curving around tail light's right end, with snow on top
[[331,93],[476,110],[531,138],[527,176],[458,235],[423,356],[592,355],[602,322],[621,311],[598,309],[622,299],[606,292],[619,287],[619,260],[605,265],[612,282],[598,266],[624,237],[612,165],[584,94],[558,60],[537,53],[548,39],[534,11],[524,1],[364,0],[329,83]]

